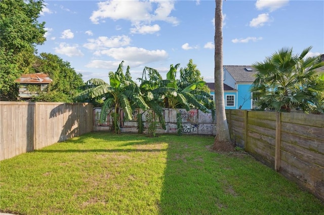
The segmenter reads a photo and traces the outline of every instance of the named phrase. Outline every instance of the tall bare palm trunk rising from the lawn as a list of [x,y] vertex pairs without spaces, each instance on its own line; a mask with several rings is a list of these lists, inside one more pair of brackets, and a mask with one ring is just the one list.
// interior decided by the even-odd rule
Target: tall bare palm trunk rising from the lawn
[[228,150],[231,148],[231,139],[225,114],[224,88],[223,88],[223,31],[222,31],[222,2],[215,0],[215,106],[216,106],[216,137],[213,148]]

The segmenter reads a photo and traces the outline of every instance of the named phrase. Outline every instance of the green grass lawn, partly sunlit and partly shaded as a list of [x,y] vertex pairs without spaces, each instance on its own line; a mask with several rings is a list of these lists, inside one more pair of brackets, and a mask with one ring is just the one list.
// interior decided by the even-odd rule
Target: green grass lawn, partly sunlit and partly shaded
[[89,133],[0,162],[17,214],[324,214],[324,205],[212,136]]

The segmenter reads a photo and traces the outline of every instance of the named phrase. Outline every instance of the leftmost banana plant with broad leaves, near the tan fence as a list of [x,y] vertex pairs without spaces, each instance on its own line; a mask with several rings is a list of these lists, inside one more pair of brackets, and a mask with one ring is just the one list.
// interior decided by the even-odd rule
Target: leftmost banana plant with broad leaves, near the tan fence
[[123,119],[132,120],[133,110],[140,108],[142,110],[149,109],[145,103],[143,95],[138,85],[132,80],[130,68],[123,73],[122,61],[116,72],[109,72],[110,84],[102,79],[90,79],[87,81],[85,89],[77,94],[74,99],[76,101],[84,101],[86,99],[102,99],[104,100],[101,110],[100,121],[103,122],[108,113],[111,112],[113,119],[112,130],[119,133],[119,125],[121,123],[121,111],[124,113]]

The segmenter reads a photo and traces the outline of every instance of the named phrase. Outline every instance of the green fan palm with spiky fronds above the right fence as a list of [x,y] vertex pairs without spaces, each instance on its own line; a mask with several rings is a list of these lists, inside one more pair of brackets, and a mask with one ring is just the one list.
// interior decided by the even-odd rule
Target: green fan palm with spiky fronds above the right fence
[[281,48],[263,62],[253,64],[258,73],[251,91],[259,97],[261,110],[291,112],[301,109],[309,113],[315,107],[323,112],[324,81],[316,69],[324,66],[324,62],[318,63],[318,57],[305,59],[310,49],[311,46],[300,55],[294,55],[293,48]]

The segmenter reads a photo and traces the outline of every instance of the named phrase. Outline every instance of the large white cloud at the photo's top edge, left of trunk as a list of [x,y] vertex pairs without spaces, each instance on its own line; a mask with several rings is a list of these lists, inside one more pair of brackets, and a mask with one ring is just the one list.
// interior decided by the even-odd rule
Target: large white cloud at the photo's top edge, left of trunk
[[[153,11],[153,8],[155,10]],[[174,1],[118,1],[111,0],[98,3],[98,10],[93,11],[90,20],[98,24],[100,20],[125,19],[132,24],[166,21],[179,24],[177,18],[170,16],[174,10]]]

